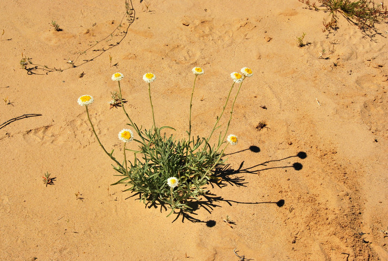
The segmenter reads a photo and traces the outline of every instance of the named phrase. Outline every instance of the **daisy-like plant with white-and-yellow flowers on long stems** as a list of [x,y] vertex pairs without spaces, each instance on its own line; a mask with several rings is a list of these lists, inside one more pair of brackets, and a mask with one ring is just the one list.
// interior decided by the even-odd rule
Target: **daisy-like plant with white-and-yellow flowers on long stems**
[[[230,121],[233,114],[234,104],[240,92],[242,82],[245,78],[253,75],[250,68],[244,67],[241,73],[233,72],[230,77],[233,83],[229,89],[226,102],[221,113],[217,116],[213,128],[210,130],[208,137],[200,137],[192,135],[192,107],[193,96],[195,89],[195,82],[197,77],[204,73],[201,67],[194,67],[192,69],[194,74],[194,84],[191,92],[190,106],[189,106],[189,126],[186,131],[188,139],[181,136],[167,135],[162,133],[163,129],[174,128],[169,126],[158,127],[155,121],[154,107],[151,98],[151,83],[155,81],[156,76],[153,73],[146,73],[143,75],[143,80],[148,85],[148,98],[152,114],[152,127],[143,129],[138,127],[132,121],[127,113],[121,92],[120,81],[124,75],[120,72],[112,75],[112,80],[118,83],[119,98],[121,107],[128,119],[128,129],[122,129],[118,133],[118,138],[123,145],[123,159],[120,162],[113,156],[113,150],[109,153],[101,144],[97,133],[94,129],[93,123],[90,120],[88,105],[94,101],[90,95],[81,96],[78,103],[85,106],[87,118],[92,127],[92,131],[96,136],[97,142],[102,147],[103,151],[113,160],[115,165],[113,168],[121,176],[115,184],[124,184],[128,188],[124,191],[131,191],[139,194],[140,199],[145,204],[154,204],[156,201],[163,202],[169,205],[171,213],[176,209],[181,211],[191,211],[190,202],[199,200],[201,195],[205,194],[205,186],[212,180],[217,180],[214,172],[225,165],[222,159],[224,151],[228,145],[237,145],[238,138],[234,134],[228,133]],[[234,99],[231,106],[229,120],[225,130],[220,131],[217,144],[210,144],[210,139],[215,130],[221,128],[219,120],[223,116],[226,105],[228,104],[231,93],[235,84],[239,84],[239,88],[235,92]],[[187,137],[187,136],[186,136]],[[138,144],[137,149],[129,149],[126,144],[135,142]],[[133,154],[133,160],[127,159],[127,153]]]

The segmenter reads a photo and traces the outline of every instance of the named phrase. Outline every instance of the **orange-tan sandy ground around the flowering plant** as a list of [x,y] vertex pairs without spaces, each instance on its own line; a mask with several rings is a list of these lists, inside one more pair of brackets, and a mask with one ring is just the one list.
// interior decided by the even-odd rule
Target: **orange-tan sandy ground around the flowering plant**
[[[21,68],[23,56],[71,67],[66,62],[117,27],[124,7],[113,0],[1,7],[0,98],[11,104],[0,102],[0,123],[42,114],[0,130],[1,260],[239,260],[233,249],[251,260],[388,260],[386,24],[371,41],[342,17],[327,36],[328,14],[297,0],[134,0],[135,19],[124,20],[119,45],[109,46],[123,34],[108,37],[95,49],[111,49],[63,72]],[[310,44],[299,48],[302,33]],[[328,59],[319,58],[322,49]],[[89,49],[75,63],[98,53]],[[111,75],[125,75],[127,110],[151,126],[142,75],[154,72],[156,122],[181,137],[194,66],[205,71],[193,99],[192,132],[200,136],[222,109],[229,74],[244,66],[254,72],[230,126],[239,143],[226,150],[240,182],[210,186],[216,201],[203,198],[191,219],[166,218],[161,206],[145,207],[124,186],[110,186],[117,181],[111,160],[77,98],[95,98],[97,133],[120,157],[117,133],[127,122],[120,108],[109,109],[118,89]],[[268,128],[257,129],[260,121]],[[46,172],[55,177],[47,187]]]

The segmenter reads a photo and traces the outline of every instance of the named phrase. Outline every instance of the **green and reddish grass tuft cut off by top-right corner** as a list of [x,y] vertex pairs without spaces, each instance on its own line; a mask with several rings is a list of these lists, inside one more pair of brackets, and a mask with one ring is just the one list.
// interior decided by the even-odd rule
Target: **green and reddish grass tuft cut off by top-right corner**
[[[388,20],[388,7],[384,3],[376,4],[372,0],[317,0],[320,7],[310,0],[299,0],[315,11],[330,13],[330,20],[323,22],[323,32],[337,30],[338,15],[345,17],[369,36],[377,33],[375,24]],[[371,34],[374,32],[374,34]]]

